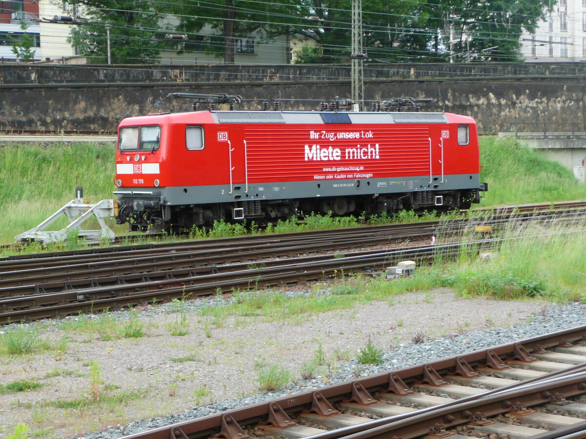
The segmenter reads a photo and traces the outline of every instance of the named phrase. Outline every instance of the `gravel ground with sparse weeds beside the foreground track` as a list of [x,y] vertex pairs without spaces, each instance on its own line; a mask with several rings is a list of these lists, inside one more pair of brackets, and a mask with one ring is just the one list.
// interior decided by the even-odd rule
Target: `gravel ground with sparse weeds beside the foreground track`
[[[306,294],[299,289],[287,294]],[[139,309],[139,319],[145,325],[141,338],[104,341],[96,334],[65,330],[54,320],[33,324],[53,338],[67,335],[69,346],[62,356],[50,352],[0,356],[0,384],[30,378],[44,384],[29,392],[0,395],[0,432],[2,428],[12,432],[21,421],[31,431],[43,432],[40,437],[114,439],[357,375],[586,325],[581,304],[462,299],[449,290],[410,293],[395,296],[391,302],[304,315],[294,321],[234,316],[202,321],[198,317],[201,307],[221,307],[230,300],[213,297],[189,301],[190,332],[183,337],[169,333],[169,322],[176,318],[168,312],[171,304]],[[120,324],[129,315],[127,311],[114,314]],[[76,318],[80,317],[67,320]],[[6,330],[10,328],[0,328]],[[411,343],[416,336],[426,341]],[[362,365],[355,358],[357,349],[369,339],[384,349],[383,364]],[[301,380],[299,370],[320,346],[329,365],[318,367],[317,378]],[[352,358],[335,359],[334,351]],[[138,390],[140,396],[116,406],[97,402],[77,410],[48,404],[56,399],[88,398],[91,361],[100,365],[104,388],[119,387],[104,390],[104,395]],[[274,363],[291,369],[295,383],[282,391],[258,393],[256,371]],[[56,375],[51,373],[56,368],[67,372],[51,376]],[[161,416],[166,413],[173,414]]]

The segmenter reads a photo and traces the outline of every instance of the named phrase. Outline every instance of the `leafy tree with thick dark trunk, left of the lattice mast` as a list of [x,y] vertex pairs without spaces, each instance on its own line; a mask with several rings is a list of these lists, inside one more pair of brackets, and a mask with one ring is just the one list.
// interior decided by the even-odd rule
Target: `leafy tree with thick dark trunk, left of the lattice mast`
[[[236,41],[253,35],[273,39],[279,35],[294,35],[299,26],[309,23],[308,9],[299,0],[176,0],[171,6],[180,23],[178,32],[185,32],[190,40],[204,43],[207,52],[223,56],[224,63],[234,63]],[[212,37],[197,35],[211,29],[222,35],[222,42],[214,44]],[[207,30],[209,32],[209,30]],[[207,44],[206,44],[207,43]],[[196,44],[190,47],[202,48]]]

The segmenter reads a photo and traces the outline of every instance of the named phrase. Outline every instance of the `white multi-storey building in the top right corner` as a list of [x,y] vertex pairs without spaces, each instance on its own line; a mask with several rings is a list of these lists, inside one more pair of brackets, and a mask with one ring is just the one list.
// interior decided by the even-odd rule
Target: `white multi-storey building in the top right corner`
[[586,61],[586,0],[558,0],[534,35],[523,32],[526,61]]

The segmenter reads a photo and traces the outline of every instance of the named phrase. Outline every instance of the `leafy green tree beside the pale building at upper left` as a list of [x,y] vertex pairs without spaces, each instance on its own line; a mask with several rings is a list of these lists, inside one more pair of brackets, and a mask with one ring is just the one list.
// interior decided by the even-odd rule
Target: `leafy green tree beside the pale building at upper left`
[[114,64],[154,64],[165,47],[161,20],[163,2],[148,0],[78,0],[85,24],[74,26],[68,42],[78,53],[104,62],[110,25],[110,52]]

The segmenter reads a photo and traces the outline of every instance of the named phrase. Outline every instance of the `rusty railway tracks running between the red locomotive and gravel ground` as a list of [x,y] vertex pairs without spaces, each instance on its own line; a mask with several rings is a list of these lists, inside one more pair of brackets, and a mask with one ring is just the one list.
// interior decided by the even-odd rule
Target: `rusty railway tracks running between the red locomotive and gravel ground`
[[[568,211],[522,214],[519,219],[574,221],[583,212]],[[506,224],[507,218],[483,218],[493,225]],[[444,233],[461,232],[465,221],[444,224]],[[416,227],[416,228],[413,228]],[[257,289],[301,280],[326,280],[342,273],[380,270],[403,259],[428,259],[438,253],[454,255],[461,242],[385,248],[341,253],[342,248],[364,247],[391,240],[429,236],[437,225],[421,223],[405,228],[378,226],[366,231],[311,232],[290,234],[279,239],[263,235],[260,241],[242,238],[197,242],[199,249],[183,246],[128,250],[128,252],[84,253],[39,259],[9,259],[0,262],[0,323],[58,317],[79,311],[97,311],[148,301],[229,293],[234,289]],[[498,245],[498,238],[482,239],[482,248]],[[227,246],[228,245],[228,246]],[[323,253],[336,249],[336,253]],[[104,249],[101,249],[104,250]],[[311,256],[306,253],[318,253]],[[152,253],[152,254],[150,254]],[[275,258],[275,255],[289,255]],[[97,257],[97,259],[96,259]],[[73,263],[76,259],[77,263]],[[234,262],[246,260],[247,262]],[[80,262],[81,261],[81,262]],[[36,266],[34,266],[36,265]],[[23,268],[26,267],[26,268]]]

